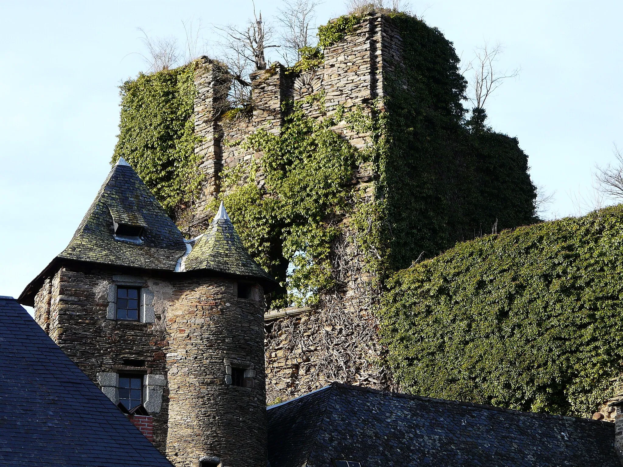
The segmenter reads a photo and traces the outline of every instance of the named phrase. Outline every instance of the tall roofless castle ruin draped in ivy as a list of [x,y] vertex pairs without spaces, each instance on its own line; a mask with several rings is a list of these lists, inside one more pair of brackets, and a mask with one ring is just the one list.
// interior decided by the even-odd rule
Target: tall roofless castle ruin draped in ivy
[[123,156],[187,237],[221,200],[283,288],[265,316],[267,398],[338,380],[401,387],[379,320],[388,278],[456,242],[532,224],[515,138],[463,105],[452,43],[417,17],[369,11],[318,29],[292,67],[231,75],[201,57],[121,87]]

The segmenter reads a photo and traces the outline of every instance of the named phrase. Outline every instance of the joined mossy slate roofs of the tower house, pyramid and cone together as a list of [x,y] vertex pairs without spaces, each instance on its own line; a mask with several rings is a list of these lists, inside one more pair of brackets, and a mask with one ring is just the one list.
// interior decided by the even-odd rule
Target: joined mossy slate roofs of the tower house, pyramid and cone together
[[[142,243],[115,238],[113,221],[143,227]],[[191,245],[193,250],[186,258],[187,246]],[[180,269],[179,263],[184,259],[186,269]],[[222,205],[206,234],[196,242],[184,240],[150,189],[123,158],[108,174],[67,248],[26,286],[19,302],[33,306],[45,278],[54,275],[62,260],[171,272],[206,270],[255,278],[268,290],[278,286],[249,256]]]

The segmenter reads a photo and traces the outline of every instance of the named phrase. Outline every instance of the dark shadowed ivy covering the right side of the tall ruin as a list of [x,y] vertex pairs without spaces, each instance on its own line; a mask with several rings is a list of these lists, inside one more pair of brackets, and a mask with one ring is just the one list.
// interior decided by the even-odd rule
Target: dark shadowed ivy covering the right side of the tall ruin
[[[518,141],[465,119],[465,78],[452,42],[424,21],[391,13],[402,38],[397,73],[384,76],[379,148],[381,222],[389,270],[455,242],[535,222],[535,187]],[[497,223],[497,224],[496,224]]]

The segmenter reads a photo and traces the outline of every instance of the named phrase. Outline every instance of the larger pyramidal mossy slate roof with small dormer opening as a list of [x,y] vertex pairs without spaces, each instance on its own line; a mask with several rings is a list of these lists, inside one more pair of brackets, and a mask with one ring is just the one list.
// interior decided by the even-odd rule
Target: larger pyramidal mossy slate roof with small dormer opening
[[[142,244],[115,239],[113,220],[143,227]],[[184,237],[134,169],[116,164],[59,258],[173,271]]]

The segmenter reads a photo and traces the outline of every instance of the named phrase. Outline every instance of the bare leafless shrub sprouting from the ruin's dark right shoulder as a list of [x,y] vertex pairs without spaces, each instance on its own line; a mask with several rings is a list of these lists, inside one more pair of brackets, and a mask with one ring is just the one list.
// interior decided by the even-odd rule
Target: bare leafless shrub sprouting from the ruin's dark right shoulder
[[502,85],[504,80],[518,77],[521,69],[516,68],[511,72],[500,72],[496,69],[503,52],[503,47],[499,43],[490,47],[485,42],[483,47],[477,47],[474,52],[475,57],[467,64],[464,73],[473,72],[472,79],[469,80],[472,90],[469,100],[476,108],[483,109],[487,98]]

